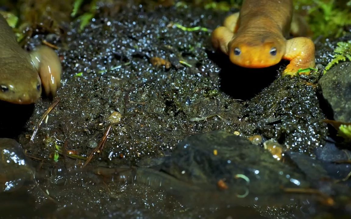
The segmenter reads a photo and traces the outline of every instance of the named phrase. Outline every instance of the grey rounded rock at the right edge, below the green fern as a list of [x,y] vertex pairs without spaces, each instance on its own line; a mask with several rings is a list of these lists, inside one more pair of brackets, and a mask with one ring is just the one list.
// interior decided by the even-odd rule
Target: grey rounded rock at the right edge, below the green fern
[[331,68],[319,80],[323,97],[333,111],[334,119],[351,122],[351,62]]

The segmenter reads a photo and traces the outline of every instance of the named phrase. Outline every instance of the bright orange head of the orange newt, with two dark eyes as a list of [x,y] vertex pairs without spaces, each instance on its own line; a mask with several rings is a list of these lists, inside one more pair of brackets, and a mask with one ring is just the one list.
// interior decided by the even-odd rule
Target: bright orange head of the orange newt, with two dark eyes
[[[280,43],[281,42],[281,43]],[[285,54],[285,41],[246,39],[244,42],[234,38],[229,43],[230,61],[245,68],[265,68],[278,64]]]

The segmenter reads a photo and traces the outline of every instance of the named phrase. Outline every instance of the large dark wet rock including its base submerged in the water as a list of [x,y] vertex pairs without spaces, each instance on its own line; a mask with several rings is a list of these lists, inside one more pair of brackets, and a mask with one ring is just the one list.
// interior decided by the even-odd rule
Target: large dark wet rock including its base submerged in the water
[[242,205],[290,203],[282,188],[310,185],[298,169],[277,161],[248,139],[225,131],[186,137],[163,164],[137,168],[135,174],[135,182],[201,206],[238,201]]

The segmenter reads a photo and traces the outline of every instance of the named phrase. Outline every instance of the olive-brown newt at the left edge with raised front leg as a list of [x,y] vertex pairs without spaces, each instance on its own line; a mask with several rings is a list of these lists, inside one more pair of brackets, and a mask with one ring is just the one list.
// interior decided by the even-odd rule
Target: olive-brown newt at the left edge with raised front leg
[[0,15],[0,100],[31,104],[41,96],[56,95],[61,85],[61,61],[47,46],[40,46],[30,54],[16,41],[12,28]]

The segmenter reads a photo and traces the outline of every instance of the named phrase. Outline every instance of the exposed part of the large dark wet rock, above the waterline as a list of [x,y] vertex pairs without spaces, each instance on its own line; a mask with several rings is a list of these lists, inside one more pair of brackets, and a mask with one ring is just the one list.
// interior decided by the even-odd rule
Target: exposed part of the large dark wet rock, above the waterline
[[[225,131],[185,138],[161,170],[196,185],[216,185],[218,180],[225,179],[232,187],[243,183],[238,175],[244,174],[250,179],[250,191],[255,194],[276,192],[280,185],[296,187],[305,184],[303,176],[277,162],[268,151]],[[290,177],[286,177],[288,174]]]

